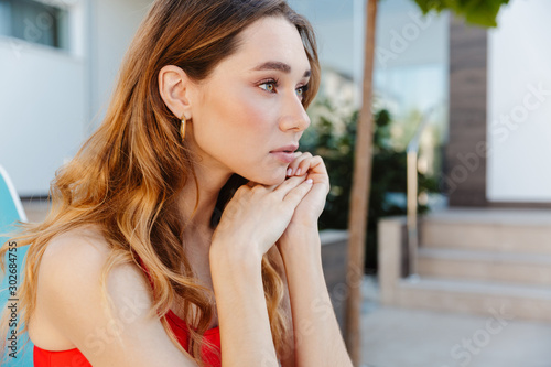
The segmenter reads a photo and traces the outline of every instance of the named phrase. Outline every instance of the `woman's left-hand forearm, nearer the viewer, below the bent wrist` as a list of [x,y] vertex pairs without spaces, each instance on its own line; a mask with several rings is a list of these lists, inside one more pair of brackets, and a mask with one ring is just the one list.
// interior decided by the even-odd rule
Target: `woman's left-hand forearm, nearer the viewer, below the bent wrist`
[[210,272],[220,326],[222,365],[277,366],[260,258],[237,257],[220,246],[210,251]]

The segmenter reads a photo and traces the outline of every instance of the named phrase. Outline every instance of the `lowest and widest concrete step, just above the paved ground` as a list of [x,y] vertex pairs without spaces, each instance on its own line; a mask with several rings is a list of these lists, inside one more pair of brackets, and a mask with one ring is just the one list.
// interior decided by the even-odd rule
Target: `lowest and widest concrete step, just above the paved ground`
[[551,322],[551,289],[428,277],[398,282],[393,305]]

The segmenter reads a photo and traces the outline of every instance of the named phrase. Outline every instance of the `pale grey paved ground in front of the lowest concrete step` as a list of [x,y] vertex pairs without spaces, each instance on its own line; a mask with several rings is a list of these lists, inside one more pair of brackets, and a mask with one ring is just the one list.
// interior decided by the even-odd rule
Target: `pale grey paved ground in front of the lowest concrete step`
[[363,313],[365,367],[551,367],[551,324],[380,306],[374,277]]

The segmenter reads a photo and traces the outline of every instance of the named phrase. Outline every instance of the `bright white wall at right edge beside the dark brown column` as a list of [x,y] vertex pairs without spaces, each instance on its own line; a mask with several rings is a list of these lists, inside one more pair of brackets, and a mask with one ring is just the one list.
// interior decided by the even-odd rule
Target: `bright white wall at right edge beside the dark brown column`
[[549,14],[548,0],[511,1],[489,32],[490,202],[551,202]]

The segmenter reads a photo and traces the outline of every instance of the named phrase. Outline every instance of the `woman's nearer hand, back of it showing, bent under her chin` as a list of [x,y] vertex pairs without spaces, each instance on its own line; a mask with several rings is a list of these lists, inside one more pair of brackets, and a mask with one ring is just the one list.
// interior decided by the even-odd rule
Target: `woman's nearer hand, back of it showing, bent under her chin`
[[312,185],[302,175],[277,186],[249,183],[239,187],[224,209],[212,248],[224,244],[237,249],[236,253],[253,251],[261,258],[281,237]]

